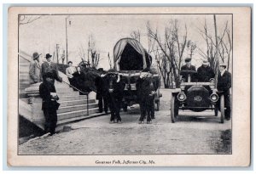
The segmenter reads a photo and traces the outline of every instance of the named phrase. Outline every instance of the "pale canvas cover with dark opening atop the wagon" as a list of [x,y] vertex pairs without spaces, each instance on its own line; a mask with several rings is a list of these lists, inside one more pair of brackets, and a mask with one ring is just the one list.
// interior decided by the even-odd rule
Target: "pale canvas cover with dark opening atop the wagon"
[[113,48],[115,70],[143,70],[151,62],[151,56],[136,39],[122,38]]

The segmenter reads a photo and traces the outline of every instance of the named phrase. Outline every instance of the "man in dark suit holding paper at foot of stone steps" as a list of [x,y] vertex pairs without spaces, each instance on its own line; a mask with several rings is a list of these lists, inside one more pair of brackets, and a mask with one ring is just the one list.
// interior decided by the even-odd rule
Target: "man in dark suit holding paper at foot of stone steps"
[[56,95],[54,75],[47,72],[44,74],[43,79],[43,83],[39,86],[39,94],[40,97],[43,98],[42,109],[45,118],[44,131],[53,135],[57,123],[57,109],[60,106],[60,104],[56,102],[59,97]]

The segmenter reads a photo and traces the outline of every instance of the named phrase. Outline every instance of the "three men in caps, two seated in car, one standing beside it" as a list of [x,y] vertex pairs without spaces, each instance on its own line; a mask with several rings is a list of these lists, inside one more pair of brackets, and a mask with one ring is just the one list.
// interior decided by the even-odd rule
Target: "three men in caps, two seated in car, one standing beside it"
[[[204,60],[201,67],[195,70],[195,66],[191,65],[191,58],[185,59],[186,65],[181,67],[181,76],[185,81],[201,81],[208,82],[215,77],[215,73],[209,66],[209,62]],[[219,64],[219,73],[217,81],[217,89],[219,94],[224,95],[225,119],[230,120],[230,87],[231,87],[231,74],[226,70],[227,65],[224,63]],[[188,70],[190,73],[188,73]],[[187,71],[187,72],[186,72]],[[189,79],[190,78],[190,79]],[[219,102],[218,102],[219,105]]]

